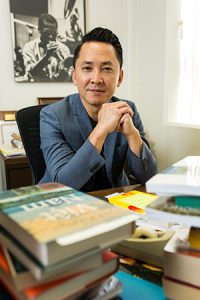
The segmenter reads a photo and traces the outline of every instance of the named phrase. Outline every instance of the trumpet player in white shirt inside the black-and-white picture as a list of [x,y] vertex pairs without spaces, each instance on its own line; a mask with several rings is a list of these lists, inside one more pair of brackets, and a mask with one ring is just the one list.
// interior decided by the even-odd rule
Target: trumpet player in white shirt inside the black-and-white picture
[[26,76],[30,81],[66,81],[65,61],[69,48],[57,40],[57,20],[42,14],[38,19],[40,38],[25,44],[23,49]]

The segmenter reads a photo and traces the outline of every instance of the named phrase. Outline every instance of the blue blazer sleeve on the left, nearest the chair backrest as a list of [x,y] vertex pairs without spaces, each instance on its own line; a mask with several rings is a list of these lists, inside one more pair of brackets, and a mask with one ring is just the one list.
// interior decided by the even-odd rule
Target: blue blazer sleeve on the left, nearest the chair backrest
[[[77,151],[72,149],[62,132],[62,122],[50,107],[41,110],[41,149],[49,179],[79,190],[105,164],[105,159],[88,139],[81,141]],[[76,139],[76,134],[71,138]]]

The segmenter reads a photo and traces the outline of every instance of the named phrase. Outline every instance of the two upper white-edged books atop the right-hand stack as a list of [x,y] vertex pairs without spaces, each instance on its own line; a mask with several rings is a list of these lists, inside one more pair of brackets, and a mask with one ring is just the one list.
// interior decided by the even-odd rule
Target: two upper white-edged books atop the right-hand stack
[[159,197],[146,207],[147,216],[198,226],[200,218],[200,156],[187,156],[146,182]]

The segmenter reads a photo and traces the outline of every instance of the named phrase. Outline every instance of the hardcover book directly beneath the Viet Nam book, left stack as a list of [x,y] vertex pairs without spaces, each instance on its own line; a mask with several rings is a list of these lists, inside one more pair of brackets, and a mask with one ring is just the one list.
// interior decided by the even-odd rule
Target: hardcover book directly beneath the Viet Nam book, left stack
[[[102,254],[97,247],[44,267],[27,252],[23,252],[23,249],[19,248],[19,244],[9,240],[6,235],[1,234],[0,239],[2,245],[4,245],[4,252],[9,265],[10,272],[8,273],[13,275],[14,284],[18,288],[27,286],[30,283],[34,286],[38,284],[38,281],[45,282],[59,277],[59,275],[63,276],[63,274],[80,273],[97,268],[102,264]],[[5,271],[5,268],[3,270]],[[28,273],[30,274],[24,280]]]

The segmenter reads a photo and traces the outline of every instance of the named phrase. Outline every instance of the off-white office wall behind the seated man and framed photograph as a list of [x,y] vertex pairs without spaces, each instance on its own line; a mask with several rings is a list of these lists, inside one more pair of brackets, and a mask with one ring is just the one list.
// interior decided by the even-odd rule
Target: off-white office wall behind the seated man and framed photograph
[[[186,155],[199,155],[198,129],[163,122],[166,0],[86,0],[86,13],[87,31],[105,26],[122,42],[125,79],[117,95],[136,102],[159,169]],[[0,41],[0,110],[76,91],[71,83],[14,82],[8,0],[0,1]]]

